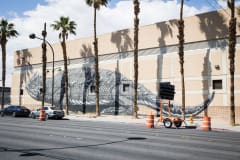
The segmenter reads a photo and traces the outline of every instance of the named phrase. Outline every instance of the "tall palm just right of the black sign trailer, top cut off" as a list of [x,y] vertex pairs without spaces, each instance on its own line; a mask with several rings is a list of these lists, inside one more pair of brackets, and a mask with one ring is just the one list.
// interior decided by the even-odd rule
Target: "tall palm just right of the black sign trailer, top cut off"
[[184,20],[183,20],[183,4],[184,0],[181,0],[181,9],[180,9],[180,20],[178,21],[178,30],[179,30],[179,59],[180,59],[180,73],[182,81],[182,112],[183,120],[185,120],[185,82],[184,82]]

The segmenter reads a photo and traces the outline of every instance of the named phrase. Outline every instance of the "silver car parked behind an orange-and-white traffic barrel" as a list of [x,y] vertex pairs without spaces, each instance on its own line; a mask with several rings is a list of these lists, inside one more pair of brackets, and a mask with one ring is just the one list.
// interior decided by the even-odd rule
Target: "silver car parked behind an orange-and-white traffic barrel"
[[[54,107],[49,107],[49,106],[44,106],[43,107],[45,110],[45,117],[46,119],[48,118],[54,118],[54,119],[62,119],[64,117],[64,111],[58,110]],[[40,115],[40,109],[34,110],[30,113],[30,117],[33,119],[38,118]]]

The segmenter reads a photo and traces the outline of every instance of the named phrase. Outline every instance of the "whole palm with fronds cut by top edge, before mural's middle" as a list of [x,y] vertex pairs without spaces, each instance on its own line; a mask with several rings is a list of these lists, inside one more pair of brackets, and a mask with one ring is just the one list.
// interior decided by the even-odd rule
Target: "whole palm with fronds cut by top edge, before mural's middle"
[[100,116],[99,109],[99,67],[98,67],[98,41],[97,41],[97,28],[96,28],[96,11],[101,6],[107,6],[109,0],[86,0],[86,3],[94,8],[94,54],[95,54],[95,92],[96,92],[96,116]]

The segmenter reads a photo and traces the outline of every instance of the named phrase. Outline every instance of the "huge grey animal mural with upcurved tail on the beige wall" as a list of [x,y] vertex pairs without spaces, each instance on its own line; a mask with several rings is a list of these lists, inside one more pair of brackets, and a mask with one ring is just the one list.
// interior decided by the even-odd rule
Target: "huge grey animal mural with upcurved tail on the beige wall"
[[[119,72],[100,69],[100,111],[102,114],[132,114],[133,82]],[[69,69],[69,106],[70,111],[95,112],[95,71],[83,66]],[[54,105],[63,109],[65,104],[64,74],[59,72],[54,81]],[[41,101],[42,77],[35,73],[26,84],[28,94]],[[186,107],[186,116],[198,115],[206,109],[214,98],[214,92],[199,105]],[[52,79],[46,80],[45,101],[52,102]],[[144,105],[159,110],[159,97],[142,84],[138,84],[138,105]],[[171,104],[172,116],[181,116],[180,105]],[[163,106],[167,114],[167,106]]]

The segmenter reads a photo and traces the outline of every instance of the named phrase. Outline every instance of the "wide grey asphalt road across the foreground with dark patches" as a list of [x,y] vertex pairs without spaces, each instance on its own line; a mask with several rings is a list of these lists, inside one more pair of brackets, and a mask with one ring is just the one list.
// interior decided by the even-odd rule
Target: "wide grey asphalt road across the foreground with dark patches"
[[240,133],[0,117],[0,160],[239,160]]

